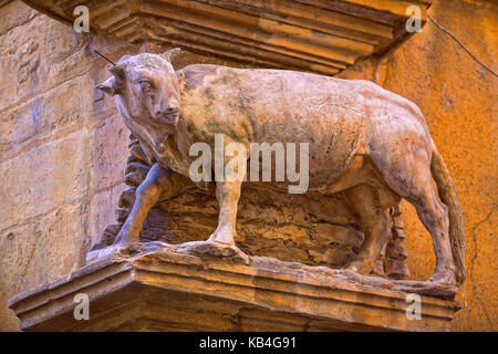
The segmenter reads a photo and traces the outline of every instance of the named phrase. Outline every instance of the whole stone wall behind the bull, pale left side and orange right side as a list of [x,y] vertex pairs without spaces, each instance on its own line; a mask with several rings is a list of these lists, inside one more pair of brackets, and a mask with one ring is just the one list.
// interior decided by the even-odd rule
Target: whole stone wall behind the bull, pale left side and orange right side
[[[434,2],[429,12],[496,69],[496,6]],[[128,132],[114,102],[94,90],[108,73],[93,49],[117,60],[139,48],[103,35],[85,45],[70,27],[20,1],[0,7],[0,330],[19,329],[9,298],[84,263],[125,188]],[[237,65],[197,54],[178,64],[194,62]],[[343,75],[376,81],[421,106],[465,212],[468,280],[453,326],[497,330],[496,77],[432,23]],[[429,236],[411,207],[403,210],[411,272],[428,278]]]

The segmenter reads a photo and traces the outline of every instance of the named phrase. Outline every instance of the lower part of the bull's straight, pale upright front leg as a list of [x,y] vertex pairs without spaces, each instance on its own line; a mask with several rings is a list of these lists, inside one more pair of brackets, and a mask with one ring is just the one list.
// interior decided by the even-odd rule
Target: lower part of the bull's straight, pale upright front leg
[[240,198],[242,181],[218,181],[216,184],[216,199],[219,204],[218,227],[209,237],[209,241],[235,246],[237,235],[237,205]]

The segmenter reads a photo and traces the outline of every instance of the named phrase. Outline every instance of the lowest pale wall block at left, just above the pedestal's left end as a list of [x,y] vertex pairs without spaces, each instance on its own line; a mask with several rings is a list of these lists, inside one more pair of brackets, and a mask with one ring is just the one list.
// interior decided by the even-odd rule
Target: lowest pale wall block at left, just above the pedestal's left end
[[89,247],[85,222],[84,207],[72,201],[0,230],[2,331],[19,329],[14,314],[7,309],[8,299],[84,264]]

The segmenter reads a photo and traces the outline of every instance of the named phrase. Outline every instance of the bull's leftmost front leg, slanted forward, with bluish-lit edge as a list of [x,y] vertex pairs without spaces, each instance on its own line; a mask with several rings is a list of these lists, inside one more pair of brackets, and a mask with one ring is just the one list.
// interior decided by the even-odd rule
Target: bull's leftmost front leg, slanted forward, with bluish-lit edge
[[160,167],[159,164],[154,164],[148,170],[147,177],[135,191],[135,202],[132,211],[121,228],[114,244],[139,241],[144,221],[151,209],[159,200],[164,189],[167,188],[169,176],[170,171]]

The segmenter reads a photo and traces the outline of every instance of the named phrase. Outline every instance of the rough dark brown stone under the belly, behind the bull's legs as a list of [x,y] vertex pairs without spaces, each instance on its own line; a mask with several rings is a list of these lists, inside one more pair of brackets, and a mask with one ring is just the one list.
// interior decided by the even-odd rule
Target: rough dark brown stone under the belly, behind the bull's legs
[[[313,201],[310,204],[305,196],[290,196],[248,185],[239,202],[237,244],[251,256],[305,264],[343,266],[353,257],[352,247],[360,244],[363,236],[350,227],[354,217],[343,208],[341,196],[315,196]],[[307,220],[300,220],[299,210],[307,202],[310,206],[305,209]],[[159,208],[146,221],[144,240],[157,237],[170,243],[205,240],[216,229],[218,202],[214,196],[190,192],[164,201]],[[317,222],[320,215],[330,210],[336,211],[329,214],[331,221]]]

